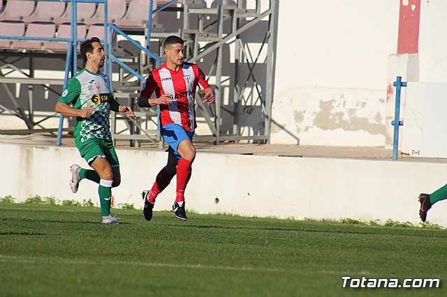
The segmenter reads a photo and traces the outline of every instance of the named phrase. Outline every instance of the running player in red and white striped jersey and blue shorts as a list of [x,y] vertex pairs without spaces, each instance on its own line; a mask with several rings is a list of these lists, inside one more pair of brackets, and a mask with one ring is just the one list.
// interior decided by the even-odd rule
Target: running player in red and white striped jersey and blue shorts
[[[145,88],[140,93],[138,105],[153,107],[160,105],[161,135],[169,144],[168,164],[157,174],[150,190],[142,192],[145,201],[143,214],[152,219],[152,209],[159,195],[177,174],[177,190],[173,211],[181,220],[187,220],[184,191],[191,177],[191,165],[196,158],[193,146],[196,124],[194,107],[196,88],[200,87],[203,102],[214,102],[214,91],[205,80],[203,71],[196,64],[183,61],[184,40],[169,36],[164,42],[166,63],[152,70],[146,79]],[[156,98],[151,98],[152,93]]]

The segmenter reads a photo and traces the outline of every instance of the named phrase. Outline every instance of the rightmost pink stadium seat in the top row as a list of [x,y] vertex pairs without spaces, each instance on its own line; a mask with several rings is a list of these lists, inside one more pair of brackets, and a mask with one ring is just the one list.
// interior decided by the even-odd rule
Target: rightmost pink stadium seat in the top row
[[[154,1],[154,8],[156,2]],[[149,17],[149,1],[132,0],[129,2],[126,15],[121,20],[115,20],[114,24],[118,27],[142,27],[147,24]]]

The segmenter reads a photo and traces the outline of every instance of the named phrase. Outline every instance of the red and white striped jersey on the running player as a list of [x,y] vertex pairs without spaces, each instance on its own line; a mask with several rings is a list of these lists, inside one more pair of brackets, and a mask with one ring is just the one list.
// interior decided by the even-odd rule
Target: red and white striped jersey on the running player
[[182,68],[174,71],[164,63],[149,74],[141,95],[150,98],[154,91],[157,98],[163,94],[173,95],[172,102],[160,105],[161,126],[177,123],[184,130],[192,132],[197,127],[194,107],[197,86],[201,90],[210,88],[197,64],[184,62]]

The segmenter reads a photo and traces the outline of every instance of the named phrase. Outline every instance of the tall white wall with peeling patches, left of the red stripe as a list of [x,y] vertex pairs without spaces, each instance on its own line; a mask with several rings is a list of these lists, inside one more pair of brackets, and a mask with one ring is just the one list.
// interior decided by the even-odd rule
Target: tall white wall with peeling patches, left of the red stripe
[[272,143],[383,146],[399,1],[279,3]]

